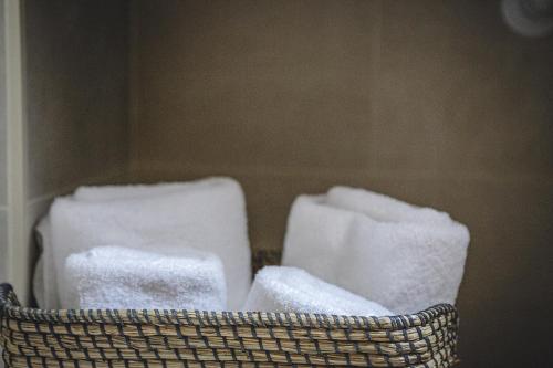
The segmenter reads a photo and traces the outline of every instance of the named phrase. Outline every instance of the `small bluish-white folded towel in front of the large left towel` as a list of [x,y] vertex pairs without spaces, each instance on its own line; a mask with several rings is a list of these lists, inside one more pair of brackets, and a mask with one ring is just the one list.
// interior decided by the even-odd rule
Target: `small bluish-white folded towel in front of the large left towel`
[[223,311],[227,288],[212,253],[156,246],[155,252],[100,246],[65,261],[67,307]]

